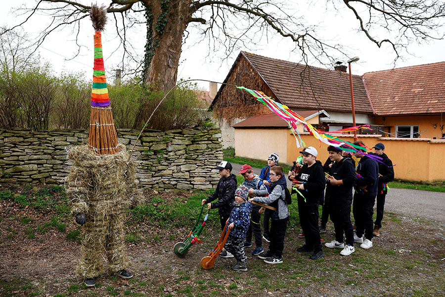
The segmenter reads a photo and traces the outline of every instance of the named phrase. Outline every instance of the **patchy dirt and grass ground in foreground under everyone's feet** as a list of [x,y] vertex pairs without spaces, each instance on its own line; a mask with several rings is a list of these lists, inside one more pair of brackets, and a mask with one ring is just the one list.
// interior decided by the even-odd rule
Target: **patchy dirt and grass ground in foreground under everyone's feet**
[[[21,191],[7,187],[12,192]],[[156,195],[186,200],[190,193]],[[385,214],[382,235],[373,241],[372,248],[356,246],[356,252],[348,257],[340,256],[340,249],[323,247],[326,256],[312,261],[309,254],[295,251],[304,244],[304,239],[297,238],[300,230],[289,230],[284,263],[267,265],[251,255],[254,245],[246,248],[247,273],[232,272],[233,259],[218,258],[211,270],[200,267],[201,258],[219,238],[219,222],[208,223],[201,236],[203,243],[192,246],[184,258],[178,258],[173,247],[192,226],[171,230],[142,224],[141,228],[156,240],[128,243],[127,252],[133,262],[129,270],[134,279],[121,280],[105,270],[92,289],[85,288],[74,274],[80,243],[76,238],[67,238],[77,229],[73,220],[55,222],[53,211],[24,209],[7,199],[0,200],[0,217],[0,296],[399,297],[443,296],[445,292],[445,224],[397,214]],[[52,225],[37,231],[38,226],[48,222]],[[60,231],[58,224],[63,223],[66,226]],[[35,229],[34,236],[30,226]],[[129,224],[128,228],[131,233],[135,225]],[[328,224],[323,238],[334,239],[332,224]]]

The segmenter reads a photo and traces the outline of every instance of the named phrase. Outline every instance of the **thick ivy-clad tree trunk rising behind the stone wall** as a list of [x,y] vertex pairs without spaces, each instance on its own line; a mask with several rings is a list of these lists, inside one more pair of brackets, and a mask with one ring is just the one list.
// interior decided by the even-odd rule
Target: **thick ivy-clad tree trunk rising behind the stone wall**
[[[168,91],[176,85],[182,36],[189,15],[188,2],[151,1],[151,61],[145,76],[145,84],[151,88]],[[168,12],[163,17],[166,3]]]

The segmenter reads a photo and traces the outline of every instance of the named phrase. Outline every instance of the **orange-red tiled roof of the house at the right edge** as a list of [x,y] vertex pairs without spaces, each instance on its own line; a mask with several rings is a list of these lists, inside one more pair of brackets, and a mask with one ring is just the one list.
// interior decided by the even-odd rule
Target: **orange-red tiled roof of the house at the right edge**
[[422,114],[445,112],[444,74],[445,62],[439,62],[368,72],[363,78],[376,114]]

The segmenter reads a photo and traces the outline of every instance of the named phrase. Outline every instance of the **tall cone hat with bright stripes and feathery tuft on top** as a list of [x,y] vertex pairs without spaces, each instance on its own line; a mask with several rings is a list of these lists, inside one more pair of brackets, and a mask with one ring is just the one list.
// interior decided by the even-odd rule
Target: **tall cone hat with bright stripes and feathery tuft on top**
[[118,139],[108,97],[101,38],[101,31],[107,22],[107,12],[103,6],[93,5],[90,17],[95,32],[88,146],[97,154],[114,154],[119,150]]

